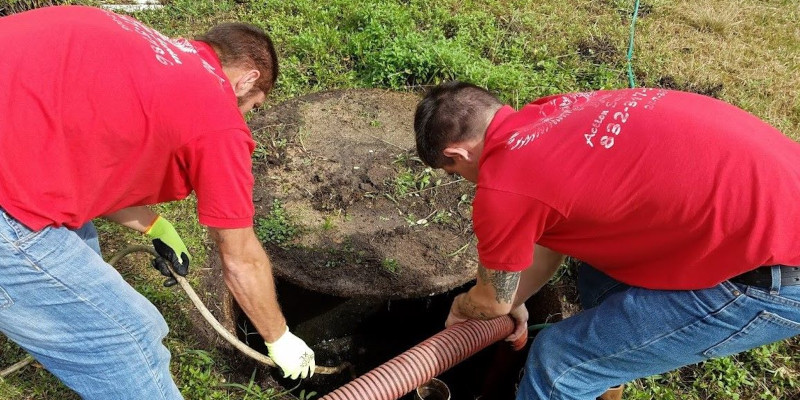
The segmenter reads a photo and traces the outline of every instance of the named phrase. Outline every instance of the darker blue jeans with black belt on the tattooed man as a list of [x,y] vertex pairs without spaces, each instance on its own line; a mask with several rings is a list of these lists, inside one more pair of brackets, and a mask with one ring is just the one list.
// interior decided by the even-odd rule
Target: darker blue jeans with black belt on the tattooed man
[[536,336],[518,400],[594,400],[612,386],[800,334],[800,286],[649,290],[582,264],[578,290],[584,311]]

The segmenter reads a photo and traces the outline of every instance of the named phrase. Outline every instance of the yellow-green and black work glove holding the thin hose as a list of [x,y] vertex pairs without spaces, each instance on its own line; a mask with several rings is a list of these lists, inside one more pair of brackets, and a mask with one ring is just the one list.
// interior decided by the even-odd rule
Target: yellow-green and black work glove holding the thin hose
[[189,250],[186,249],[178,232],[169,221],[159,215],[150,228],[145,231],[145,235],[152,239],[153,247],[159,255],[152,264],[153,268],[161,272],[161,275],[167,277],[164,280],[164,286],[169,287],[178,283],[168,268],[169,264],[172,264],[172,268],[180,276],[186,276],[189,273]]

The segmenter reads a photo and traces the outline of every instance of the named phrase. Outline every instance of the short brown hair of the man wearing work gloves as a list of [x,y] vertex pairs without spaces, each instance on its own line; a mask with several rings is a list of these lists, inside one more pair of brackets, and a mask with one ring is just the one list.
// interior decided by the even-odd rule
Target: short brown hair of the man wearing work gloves
[[241,22],[219,24],[197,38],[218,53],[223,67],[257,69],[255,88],[268,94],[278,79],[278,55],[272,39],[261,28]]

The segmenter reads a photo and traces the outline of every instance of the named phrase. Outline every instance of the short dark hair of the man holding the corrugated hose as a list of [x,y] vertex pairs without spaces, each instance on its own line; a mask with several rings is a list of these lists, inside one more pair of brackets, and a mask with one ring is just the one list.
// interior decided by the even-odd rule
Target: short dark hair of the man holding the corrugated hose
[[419,158],[433,168],[452,164],[442,151],[482,135],[477,127],[486,121],[487,110],[502,104],[488,90],[467,82],[451,81],[429,90],[414,114]]

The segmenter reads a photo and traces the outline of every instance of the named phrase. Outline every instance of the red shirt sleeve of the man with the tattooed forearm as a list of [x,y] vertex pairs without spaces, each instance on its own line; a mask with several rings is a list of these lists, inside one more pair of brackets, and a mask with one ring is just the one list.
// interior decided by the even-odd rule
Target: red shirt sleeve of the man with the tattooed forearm
[[519,194],[478,188],[472,203],[478,258],[489,269],[517,272],[533,262],[533,248],[562,216],[544,203]]

